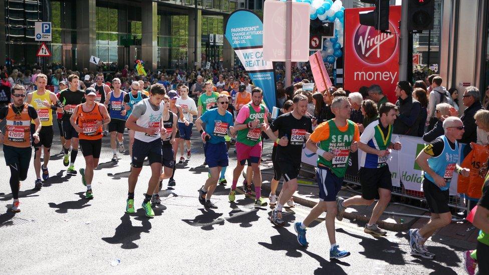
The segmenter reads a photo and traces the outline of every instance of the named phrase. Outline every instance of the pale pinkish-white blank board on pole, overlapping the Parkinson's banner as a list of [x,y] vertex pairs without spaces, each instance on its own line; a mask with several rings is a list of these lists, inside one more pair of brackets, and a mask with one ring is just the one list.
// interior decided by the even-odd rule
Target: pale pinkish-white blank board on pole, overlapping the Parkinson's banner
[[[309,4],[292,3],[292,62],[309,61]],[[265,1],[263,9],[263,58],[286,59],[286,2]]]

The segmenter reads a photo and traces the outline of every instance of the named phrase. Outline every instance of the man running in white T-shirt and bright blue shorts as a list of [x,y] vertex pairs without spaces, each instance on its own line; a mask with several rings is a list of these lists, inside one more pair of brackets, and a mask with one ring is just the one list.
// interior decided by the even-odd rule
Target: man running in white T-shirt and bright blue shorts
[[190,137],[192,136],[193,116],[197,115],[197,106],[195,101],[188,97],[188,87],[183,85],[180,87],[181,97],[176,100],[176,104],[182,107],[183,117],[187,120],[188,124],[178,119],[178,131],[180,132],[180,161],[183,159],[183,143],[187,145],[187,159],[190,159],[192,153],[190,151]]

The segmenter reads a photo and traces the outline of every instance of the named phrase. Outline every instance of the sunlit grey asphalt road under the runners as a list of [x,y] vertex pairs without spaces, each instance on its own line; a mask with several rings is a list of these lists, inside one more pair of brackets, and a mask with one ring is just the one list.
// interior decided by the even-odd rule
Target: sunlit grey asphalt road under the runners
[[[55,129],[57,126],[55,126]],[[55,130],[57,131],[57,129]],[[194,136],[198,135],[194,133]],[[128,137],[125,135],[127,148]],[[284,227],[268,220],[270,208],[255,209],[254,200],[242,194],[227,200],[228,188],[218,186],[212,201],[219,207],[205,210],[197,189],[207,177],[202,166],[201,142],[193,139],[192,157],[178,165],[174,189],[163,187],[156,216],[145,217],[140,207],[150,169],[143,167],[135,192],[136,213],[124,212],[129,175],[129,155],[110,161],[109,139],[104,138],[99,168],[92,188],[95,199],[86,200],[80,175],[66,174],[62,156],[49,163],[51,178],[33,190],[31,166],[22,182],[22,212],[7,211],[12,203],[9,172],[0,177],[0,272],[13,273],[272,273],[272,274],[464,274],[461,249],[428,241],[435,260],[409,254],[406,232],[389,231],[374,238],[364,224],[336,222],[337,242],[350,250],[341,260],[329,259],[329,241],[319,219],[308,229],[309,247],[296,240],[294,221],[302,221],[309,208],[287,209]],[[265,152],[271,151],[271,143]],[[53,154],[61,149],[55,138]],[[235,154],[229,150],[231,182]],[[265,157],[267,158],[267,157]],[[4,161],[0,151],[0,161]],[[84,167],[81,152],[75,163]],[[4,166],[5,167],[5,166]],[[239,182],[242,181],[240,178]],[[164,183],[166,183],[165,181]],[[238,183],[238,186],[241,184]],[[238,188],[239,190],[239,188]],[[268,194],[264,194],[268,196]],[[139,208],[139,209],[138,209]],[[2,210],[3,209],[3,210]]]

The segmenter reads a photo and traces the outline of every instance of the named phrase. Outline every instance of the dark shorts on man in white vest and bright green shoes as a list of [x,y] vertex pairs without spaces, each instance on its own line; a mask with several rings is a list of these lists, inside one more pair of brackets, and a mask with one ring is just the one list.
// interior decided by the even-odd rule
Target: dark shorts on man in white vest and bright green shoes
[[132,167],[143,167],[143,162],[146,157],[149,160],[149,165],[155,162],[161,163],[161,139],[158,138],[151,142],[144,142],[137,138],[134,139],[134,143],[132,144]]

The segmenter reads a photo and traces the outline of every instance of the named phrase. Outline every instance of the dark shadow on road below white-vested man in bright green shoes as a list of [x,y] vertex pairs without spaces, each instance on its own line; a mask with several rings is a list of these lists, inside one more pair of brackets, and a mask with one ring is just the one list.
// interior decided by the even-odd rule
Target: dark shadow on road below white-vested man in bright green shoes
[[121,224],[115,228],[113,237],[103,237],[102,240],[110,244],[121,244],[123,249],[135,249],[139,246],[135,243],[136,240],[141,238],[141,233],[149,233],[151,229],[151,222],[144,216],[144,210],[139,208],[137,210],[136,220],[141,221],[141,226],[133,226],[131,221],[131,215],[124,213],[121,217]]

